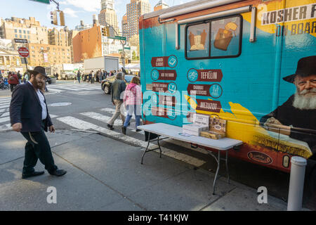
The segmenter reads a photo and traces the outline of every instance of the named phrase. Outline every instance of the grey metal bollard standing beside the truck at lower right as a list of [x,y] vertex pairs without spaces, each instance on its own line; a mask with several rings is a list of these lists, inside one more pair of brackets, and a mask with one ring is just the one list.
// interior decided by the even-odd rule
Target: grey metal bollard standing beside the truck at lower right
[[306,165],[307,162],[305,158],[298,156],[291,158],[291,175],[287,211],[300,211],[302,209]]

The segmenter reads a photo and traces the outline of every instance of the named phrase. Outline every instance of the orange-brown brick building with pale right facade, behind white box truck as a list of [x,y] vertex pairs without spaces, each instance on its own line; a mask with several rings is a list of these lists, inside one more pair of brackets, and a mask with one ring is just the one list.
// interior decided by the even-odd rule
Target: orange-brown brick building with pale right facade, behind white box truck
[[[122,51],[121,41],[102,35],[101,29],[103,27],[102,25],[94,25],[90,29],[81,30],[74,36],[72,39],[74,63],[82,63],[86,58],[109,56]],[[131,57],[129,44],[126,44],[124,47],[126,48],[126,58]]]

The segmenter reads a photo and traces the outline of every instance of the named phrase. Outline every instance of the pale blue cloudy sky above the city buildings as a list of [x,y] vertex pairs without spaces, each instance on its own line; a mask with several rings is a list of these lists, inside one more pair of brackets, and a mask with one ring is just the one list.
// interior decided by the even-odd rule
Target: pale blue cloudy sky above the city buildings
[[[65,24],[72,30],[84,20],[84,24],[92,24],[92,15],[100,13],[100,0],[55,0],[60,3],[60,10],[65,13]],[[121,29],[121,18],[126,13],[126,4],[130,0],[114,0],[117,19]],[[149,0],[151,11],[159,0]],[[176,6],[192,0],[164,0],[169,6]],[[29,18],[34,17],[41,25],[46,27],[59,27],[51,25],[50,12],[56,8],[56,4],[51,2],[50,5],[29,0],[0,0],[0,18]]]

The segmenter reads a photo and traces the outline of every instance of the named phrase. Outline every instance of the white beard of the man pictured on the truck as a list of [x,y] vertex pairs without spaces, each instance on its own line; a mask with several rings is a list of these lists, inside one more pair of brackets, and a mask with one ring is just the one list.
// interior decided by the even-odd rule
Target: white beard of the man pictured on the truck
[[315,110],[316,109],[316,88],[310,90],[303,90],[298,94],[296,91],[294,95],[293,106],[300,110]]

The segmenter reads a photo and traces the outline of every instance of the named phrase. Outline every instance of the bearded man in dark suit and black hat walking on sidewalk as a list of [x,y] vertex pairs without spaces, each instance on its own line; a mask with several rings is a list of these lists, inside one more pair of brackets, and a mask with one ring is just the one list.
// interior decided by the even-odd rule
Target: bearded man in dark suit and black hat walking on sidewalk
[[46,100],[41,91],[45,85],[45,68],[37,66],[28,70],[29,81],[16,86],[10,105],[11,125],[14,131],[21,132],[27,139],[25,145],[25,160],[22,169],[22,179],[39,176],[34,167],[39,159],[45,165],[48,173],[54,176],[66,174],[64,169],[58,169],[53,160],[51,146],[44,131],[55,132],[48,113]]

